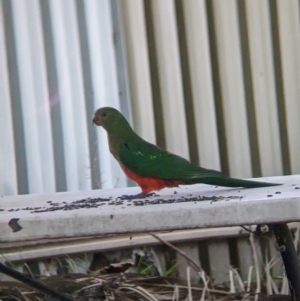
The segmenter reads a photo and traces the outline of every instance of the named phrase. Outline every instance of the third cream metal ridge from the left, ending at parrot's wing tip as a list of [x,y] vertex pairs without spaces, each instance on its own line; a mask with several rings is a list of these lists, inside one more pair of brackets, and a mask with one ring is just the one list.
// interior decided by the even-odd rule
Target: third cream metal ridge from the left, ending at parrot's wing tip
[[185,0],[183,7],[200,165],[220,170],[205,1]]

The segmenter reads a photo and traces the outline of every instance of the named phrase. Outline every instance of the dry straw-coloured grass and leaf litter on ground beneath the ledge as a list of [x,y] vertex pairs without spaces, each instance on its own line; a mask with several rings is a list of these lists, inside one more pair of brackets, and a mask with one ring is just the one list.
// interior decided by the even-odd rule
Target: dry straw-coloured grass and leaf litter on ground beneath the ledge
[[[156,237],[156,235],[153,236]],[[269,259],[268,254],[265,254],[265,266],[261,269],[254,234],[250,235],[254,265],[249,268],[247,281],[243,281],[239,271],[232,267],[228,272],[227,287],[214,285],[213,280],[184,252],[161,238],[157,237],[157,239],[187,260],[187,282],[180,280],[178,277],[157,276],[158,269],[156,275],[153,276],[153,273],[149,275],[149,273],[151,274],[149,267],[159,266],[159,263],[152,263],[151,266],[149,263],[145,263],[143,266],[141,260],[135,264],[132,262],[108,264],[105,268],[98,268],[89,273],[81,273],[80,271],[89,269],[90,257],[88,258],[88,256],[84,256],[83,259],[66,256],[63,260],[57,258],[51,260],[55,262],[56,266],[62,267],[67,264],[68,270],[73,271],[73,273],[61,273],[60,275],[47,277],[34,275],[27,264],[23,265],[22,270],[26,270],[32,278],[42,282],[47,287],[62,294],[67,294],[73,300],[280,301],[289,299],[287,296],[288,284],[284,272],[281,279],[274,279],[272,276],[272,268],[281,258]],[[299,229],[295,235],[295,246],[298,245]],[[39,263],[39,266],[44,269],[46,275],[51,275],[49,268],[53,267],[53,264],[50,264],[48,269],[44,264]],[[176,268],[176,266],[174,267]],[[194,269],[199,275],[197,286],[191,284],[190,269]],[[144,275],[144,271],[147,271],[148,274]],[[6,281],[0,283],[0,300],[54,300],[49,298],[44,293],[20,282]]]

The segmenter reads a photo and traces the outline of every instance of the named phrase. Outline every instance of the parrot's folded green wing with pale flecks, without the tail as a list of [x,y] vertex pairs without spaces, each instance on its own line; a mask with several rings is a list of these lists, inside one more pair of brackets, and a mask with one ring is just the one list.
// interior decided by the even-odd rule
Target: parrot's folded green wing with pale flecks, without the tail
[[192,165],[188,160],[142,139],[123,143],[119,156],[122,164],[143,177],[193,181],[202,177],[222,176],[218,171]]

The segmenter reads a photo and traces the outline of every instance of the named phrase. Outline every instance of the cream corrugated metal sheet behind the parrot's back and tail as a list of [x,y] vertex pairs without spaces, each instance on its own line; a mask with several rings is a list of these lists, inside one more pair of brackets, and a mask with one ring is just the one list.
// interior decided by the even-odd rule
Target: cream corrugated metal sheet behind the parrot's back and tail
[[[159,145],[232,176],[300,172],[299,1],[124,0],[122,8],[131,89],[149,87],[149,77],[152,87],[132,95],[135,124],[154,111]],[[148,123],[138,128],[144,137]]]

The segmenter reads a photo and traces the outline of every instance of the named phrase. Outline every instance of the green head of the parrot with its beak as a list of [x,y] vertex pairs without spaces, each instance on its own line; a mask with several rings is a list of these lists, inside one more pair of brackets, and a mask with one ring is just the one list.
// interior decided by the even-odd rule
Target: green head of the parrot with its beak
[[93,124],[102,126],[108,133],[119,132],[130,127],[126,118],[118,110],[111,107],[96,110]]

